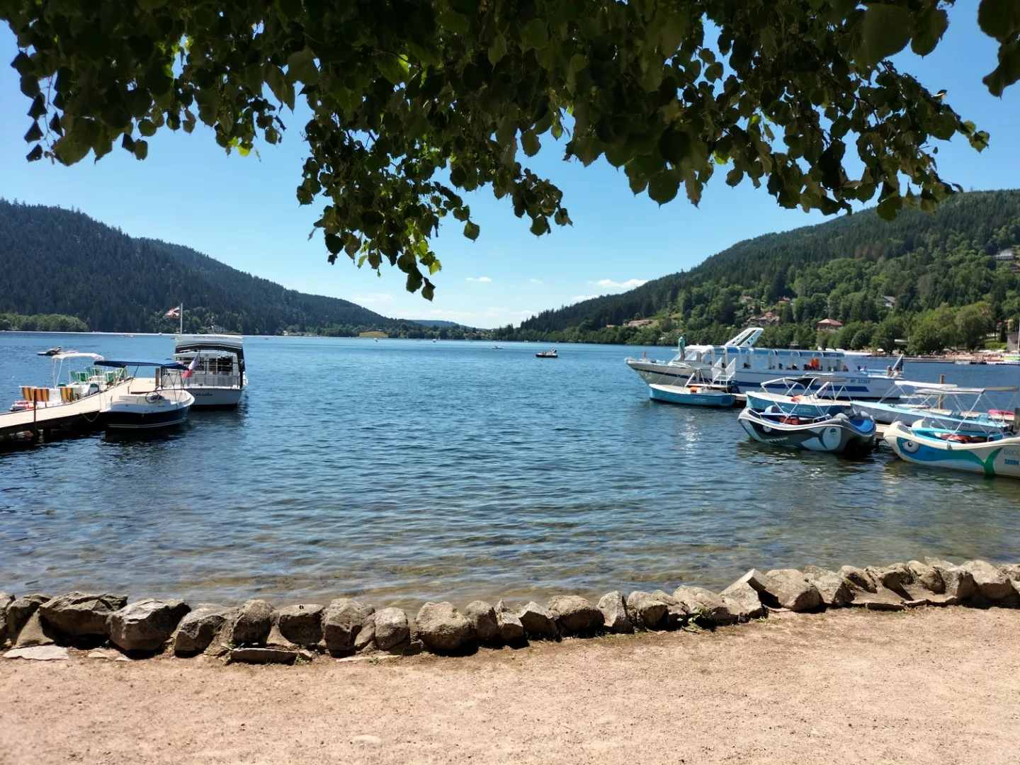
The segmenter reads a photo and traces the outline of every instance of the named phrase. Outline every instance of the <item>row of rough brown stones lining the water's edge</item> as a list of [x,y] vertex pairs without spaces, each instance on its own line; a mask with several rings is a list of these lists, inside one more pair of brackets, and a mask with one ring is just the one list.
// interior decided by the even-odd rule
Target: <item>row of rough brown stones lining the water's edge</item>
[[917,606],[1020,607],[1020,564],[980,560],[956,565],[937,558],[889,566],[829,571],[751,569],[720,594],[698,586],[619,592],[597,605],[576,595],[543,607],[473,601],[461,612],[426,603],[413,619],[399,608],[376,611],[349,598],[327,606],[274,609],[263,600],[238,608],[123,595],[67,593],[56,598],[0,593],[0,648],[6,658],[65,659],[67,646],[92,658],[220,657],[226,662],[294,664],[321,656],[356,661],[428,651],[464,655],[478,646],[525,646],[529,641],[589,638],[607,632],[714,629],[760,619],[773,611],[819,612],[858,607],[902,611]]

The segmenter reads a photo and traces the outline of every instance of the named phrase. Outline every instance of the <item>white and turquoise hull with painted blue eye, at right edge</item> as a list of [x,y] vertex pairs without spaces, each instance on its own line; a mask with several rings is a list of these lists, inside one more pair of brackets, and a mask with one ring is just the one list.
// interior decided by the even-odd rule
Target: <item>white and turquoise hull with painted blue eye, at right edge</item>
[[885,443],[897,457],[915,465],[1020,478],[1020,437],[1005,437],[985,444],[957,444],[918,434],[896,422],[886,429]]

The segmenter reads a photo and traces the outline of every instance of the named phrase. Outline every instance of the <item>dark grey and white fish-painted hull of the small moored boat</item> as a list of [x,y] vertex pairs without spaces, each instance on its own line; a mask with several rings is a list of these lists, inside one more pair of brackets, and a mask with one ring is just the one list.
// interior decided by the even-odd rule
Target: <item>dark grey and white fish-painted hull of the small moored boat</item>
[[810,424],[788,424],[753,409],[745,409],[737,419],[755,441],[786,449],[866,454],[875,445],[875,423],[869,419],[839,417]]

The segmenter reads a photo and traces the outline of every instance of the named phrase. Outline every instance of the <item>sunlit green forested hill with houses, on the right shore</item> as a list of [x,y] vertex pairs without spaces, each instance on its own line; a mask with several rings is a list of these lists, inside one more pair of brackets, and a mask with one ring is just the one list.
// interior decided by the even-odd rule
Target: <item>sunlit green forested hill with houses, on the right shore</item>
[[[996,259],[1014,245],[1017,260]],[[682,330],[687,342],[721,343],[757,323],[767,327],[760,343],[813,347],[828,318],[844,324],[843,347],[887,348],[923,326],[916,350],[935,350],[973,340],[977,324],[1015,320],[1018,291],[1020,191],[971,192],[935,214],[904,210],[889,223],[867,210],[741,242],[691,271],[545,311],[498,337],[672,344]],[[967,330],[954,310],[964,306],[961,320],[982,316]]]

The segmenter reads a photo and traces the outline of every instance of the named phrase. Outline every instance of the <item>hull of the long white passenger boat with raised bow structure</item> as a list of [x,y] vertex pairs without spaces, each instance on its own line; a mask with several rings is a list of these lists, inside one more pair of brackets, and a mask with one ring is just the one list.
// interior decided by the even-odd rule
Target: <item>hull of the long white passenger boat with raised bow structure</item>
[[[649,385],[675,386],[686,382],[687,378],[695,373],[701,373],[706,378],[713,377],[713,367],[703,363],[666,362],[651,361],[649,359],[626,359],[626,364],[633,369],[642,379]],[[781,382],[775,382],[776,374],[782,374],[782,369],[735,369],[731,378],[727,381],[736,387],[737,393],[748,393],[751,391],[771,391],[773,393],[783,393],[786,387]],[[809,370],[798,371],[801,376],[812,376]],[[829,374],[831,377],[831,374]],[[860,399],[864,401],[877,401],[885,399],[895,401],[901,396],[901,390],[896,386],[895,377],[871,377],[864,374],[847,374],[842,377],[846,380],[843,384],[838,397],[840,399]],[[772,382],[772,385],[767,385]],[[816,393],[826,382],[824,376],[820,376],[819,381],[809,387],[810,393]]]

